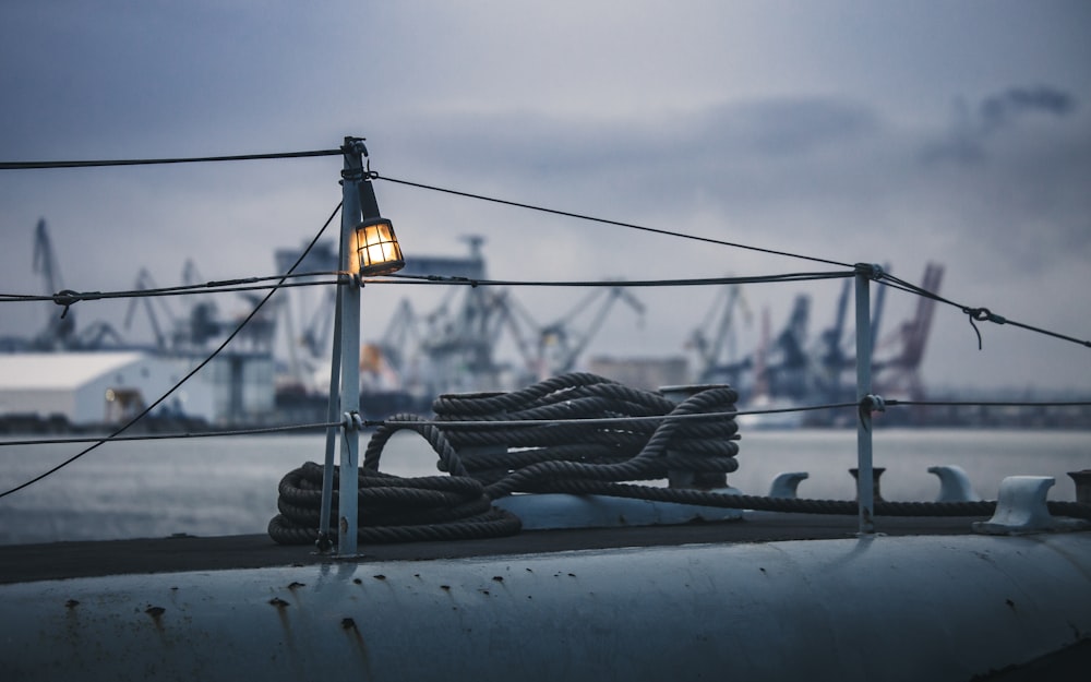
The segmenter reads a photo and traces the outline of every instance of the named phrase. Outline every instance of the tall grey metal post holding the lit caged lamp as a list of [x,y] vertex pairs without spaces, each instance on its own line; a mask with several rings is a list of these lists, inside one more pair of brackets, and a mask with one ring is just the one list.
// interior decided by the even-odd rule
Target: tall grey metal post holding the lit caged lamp
[[357,553],[357,471],[359,435],[352,417],[360,411],[360,284],[355,228],[360,222],[359,186],[363,179],[363,141],[345,139],[345,171],[341,180],[340,266],[350,277],[337,291],[341,311],[340,328],[340,410],[345,418],[340,448],[338,488],[337,553]]

